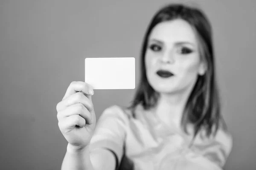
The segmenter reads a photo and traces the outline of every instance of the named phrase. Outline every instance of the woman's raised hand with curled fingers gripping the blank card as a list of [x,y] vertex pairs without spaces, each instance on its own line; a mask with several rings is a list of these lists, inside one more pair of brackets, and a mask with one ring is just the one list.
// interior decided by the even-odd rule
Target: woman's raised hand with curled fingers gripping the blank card
[[69,147],[82,150],[93,136],[96,117],[91,100],[93,88],[86,82],[71,82],[56,106],[58,126]]

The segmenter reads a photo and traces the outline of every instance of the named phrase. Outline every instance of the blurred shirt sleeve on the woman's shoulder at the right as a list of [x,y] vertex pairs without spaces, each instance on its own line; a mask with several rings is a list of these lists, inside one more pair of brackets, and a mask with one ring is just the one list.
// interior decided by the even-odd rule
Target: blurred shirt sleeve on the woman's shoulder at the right
[[186,163],[183,163],[188,164],[190,170],[222,170],[232,146],[231,134],[224,130],[218,130],[216,136],[208,142],[193,144],[185,156]]

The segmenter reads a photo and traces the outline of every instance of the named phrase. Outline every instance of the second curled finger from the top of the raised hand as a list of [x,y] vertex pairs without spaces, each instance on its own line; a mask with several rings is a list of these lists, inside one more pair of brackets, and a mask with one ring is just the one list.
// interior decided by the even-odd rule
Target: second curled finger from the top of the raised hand
[[56,106],[56,110],[59,112],[67,108],[68,106],[74,105],[76,103],[83,104],[89,112],[93,110],[93,103],[91,99],[88,99],[88,97],[86,97],[83,92],[77,92],[75,94],[72,94],[63,101],[59,102]]

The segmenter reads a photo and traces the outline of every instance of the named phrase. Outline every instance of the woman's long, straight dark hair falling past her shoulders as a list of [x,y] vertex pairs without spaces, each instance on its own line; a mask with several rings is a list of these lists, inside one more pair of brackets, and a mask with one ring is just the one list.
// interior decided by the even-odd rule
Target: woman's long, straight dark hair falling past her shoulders
[[[207,65],[204,75],[198,75],[194,88],[186,102],[181,118],[181,128],[188,133],[187,125],[191,123],[194,128],[194,138],[201,129],[206,130],[206,135],[215,136],[224,120],[220,114],[220,98],[215,79],[214,51],[212,45],[212,28],[209,20],[199,8],[185,6],[183,4],[170,4],[160,8],[151,19],[148,25],[142,50],[140,54],[140,82],[134,99],[128,107],[135,118],[135,108],[141,104],[145,110],[154,107],[157,103],[159,93],[154,91],[146,78],[145,52],[148,44],[148,37],[152,29],[159,23],[183,19],[193,28],[199,43],[200,58]],[[223,124],[220,122],[223,121]]]

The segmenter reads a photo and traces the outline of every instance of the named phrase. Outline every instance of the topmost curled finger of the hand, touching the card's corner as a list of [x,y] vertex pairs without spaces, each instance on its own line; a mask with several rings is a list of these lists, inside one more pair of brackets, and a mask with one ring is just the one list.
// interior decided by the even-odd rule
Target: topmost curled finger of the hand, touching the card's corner
[[67,91],[62,100],[66,99],[68,96],[75,94],[76,92],[82,91],[87,95],[93,95],[93,87],[86,82],[73,81],[67,88]]

